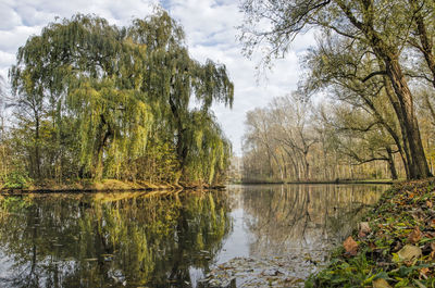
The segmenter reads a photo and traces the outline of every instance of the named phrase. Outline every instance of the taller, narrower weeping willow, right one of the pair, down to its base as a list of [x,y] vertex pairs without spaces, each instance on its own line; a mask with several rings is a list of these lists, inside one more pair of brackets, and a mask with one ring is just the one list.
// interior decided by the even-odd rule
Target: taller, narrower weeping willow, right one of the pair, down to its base
[[[167,141],[175,139],[179,163],[176,178],[188,175],[185,179],[211,183],[223,171],[214,167],[215,163],[224,162],[217,159],[229,154],[228,141],[210,114],[215,101],[233,104],[234,86],[225,66],[211,60],[201,64],[191,59],[182,27],[161,10],[146,20],[135,20],[127,35],[135,43],[147,47],[142,90],[153,108],[159,137]],[[194,99],[199,110],[189,109]],[[199,141],[202,138],[199,135],[206,130],[213,132],[210,135],[219,139],[206,136]],[[207,149],[201,148],[208,145]],[[213,151],[206,152],[210,149]],[[204,164],[209,165],[208,172],[202,168]]]

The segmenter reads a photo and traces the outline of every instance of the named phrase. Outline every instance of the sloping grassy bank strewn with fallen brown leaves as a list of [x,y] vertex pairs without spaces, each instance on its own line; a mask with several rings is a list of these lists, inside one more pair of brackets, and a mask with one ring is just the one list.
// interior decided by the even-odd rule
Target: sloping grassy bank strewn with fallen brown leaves
[[306,287],[435,287],[435,178],[396,184]]

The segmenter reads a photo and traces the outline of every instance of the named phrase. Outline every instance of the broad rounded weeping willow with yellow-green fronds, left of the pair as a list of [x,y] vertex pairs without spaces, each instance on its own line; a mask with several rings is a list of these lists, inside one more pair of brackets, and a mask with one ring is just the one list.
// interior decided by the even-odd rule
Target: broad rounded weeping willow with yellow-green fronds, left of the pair
[[40,120],[55,127],[55,148],[66,128],[62,122],[73,124],[80,175],[100,179],[104,170],[117,175],[121,161],[145,149],[152,121],[139,96],[145,48],[125,41],[122,33],[105,20],[76,15],[48,25],[18,50],[11,70],[15,93],[40,102],[38,110],[30,108],[37,111],[36,175]]

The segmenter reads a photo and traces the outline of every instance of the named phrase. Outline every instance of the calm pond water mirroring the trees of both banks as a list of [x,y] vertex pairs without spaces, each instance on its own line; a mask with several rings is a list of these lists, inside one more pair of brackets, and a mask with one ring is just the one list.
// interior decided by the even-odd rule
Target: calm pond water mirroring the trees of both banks
[[275,185],[0,198],[0,287],[198,287],[236,256],[287,255],[304,278],[385,189]]

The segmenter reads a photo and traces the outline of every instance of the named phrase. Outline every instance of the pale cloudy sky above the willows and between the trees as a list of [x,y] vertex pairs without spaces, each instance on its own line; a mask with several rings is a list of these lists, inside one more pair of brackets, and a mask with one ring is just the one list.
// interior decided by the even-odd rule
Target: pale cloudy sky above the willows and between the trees
[[96,14],[123,26],[133,18],[149,15],[156,4],[162,5],[184,27],[194,59],[201,62],[211,59],[226,65],[235,85],[234,105],[229,110],[216,104],[213,110],[234,152],[241,155],[246,112],[265,107],[274,97],[297,88],[302,73],[299,59],[314,45],[314,37],[310,33],[298,36],[285,59],[275,61],[271,71],[259,76],[256,66],[261,53],[253,60],[247,59],[237,40],[237,26],[244,18],[238,0],[0,0],[0,75],[8,79],[17,49],[55,17]]

